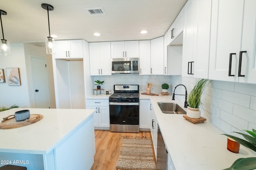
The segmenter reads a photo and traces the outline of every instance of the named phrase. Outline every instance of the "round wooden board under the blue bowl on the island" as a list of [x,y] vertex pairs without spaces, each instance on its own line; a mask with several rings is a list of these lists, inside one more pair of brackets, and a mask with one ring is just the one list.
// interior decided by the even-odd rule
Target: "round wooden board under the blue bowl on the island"
[[4,117],[0,123],[0,129],[14,129],[17,127],[23,127],[30,125],[32,123],[38,122],[43,119],[43,115],[40,114],[30,114],[30,118],[24,121],[16,121],[14,115]]

